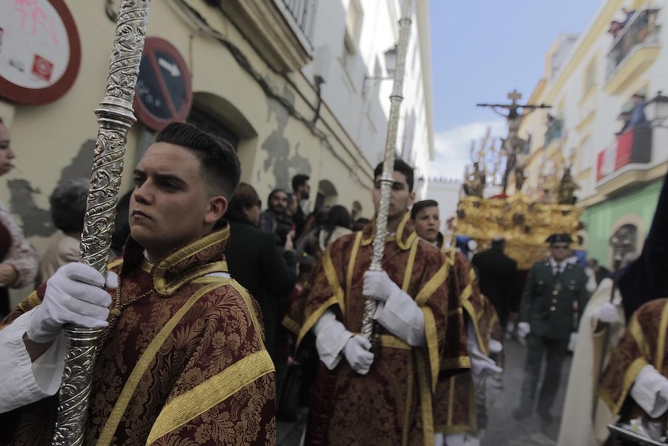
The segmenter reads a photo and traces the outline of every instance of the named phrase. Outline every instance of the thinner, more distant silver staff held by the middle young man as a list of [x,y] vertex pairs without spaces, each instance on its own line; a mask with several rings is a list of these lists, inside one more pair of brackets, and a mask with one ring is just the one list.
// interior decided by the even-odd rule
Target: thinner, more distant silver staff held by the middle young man
[[[399,19],[399,43],[397,44],[397,68],[394,72],[394,85],[392,94],[389,96],[391,106],[389,109],[389,123],[387,124],[387,139],[385,140],[385,159],[383,160],[383,174],[381,176],[380,202],[376,212],[375,234],[373,236],[373,255],[369,271],[383,270],[383,251],[385,250],[385,237],[387,236],[387,212],[389,210],[389,194],[393,183],[392,173],[394,171],[395,147],[397,144],[397,127],[399,126],[399,108],[403,99],[403,71],[406,64],[406,51],[408,48],[408,37],[411,26],[411,15],[413,13],[413,0],[403,0],[401,7],[401,19]],[[363,337],[371,341],[373,336],[373,313],[376,309],[376,301],[367,297],[364,302],[364,316],[362,318],[361,333]]]

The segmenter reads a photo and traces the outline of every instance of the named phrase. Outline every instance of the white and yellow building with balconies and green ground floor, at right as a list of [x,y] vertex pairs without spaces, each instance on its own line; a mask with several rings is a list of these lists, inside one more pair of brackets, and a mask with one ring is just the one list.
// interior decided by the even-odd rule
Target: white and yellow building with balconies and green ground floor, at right
[[603,2],[577,39],[560,36],[548,51],[529,100],[552,108],[520,125],[529,140],[525,192],[539,197],[570,167],[582,238],[602,264],[612,264],[609,240],[619,230],[633,234],[639,252],[668,168],[668,129],[642,118],[645,103],[668,91],[667,28],[665,2]]

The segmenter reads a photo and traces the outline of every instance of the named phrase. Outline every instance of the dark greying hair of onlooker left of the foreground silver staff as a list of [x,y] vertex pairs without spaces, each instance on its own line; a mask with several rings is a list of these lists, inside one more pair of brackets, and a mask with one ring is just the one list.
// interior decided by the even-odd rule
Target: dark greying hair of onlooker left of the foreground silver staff
[[86,198],[90,182],[86,178],[73,178],[61,182],[49,197],[51,220],[65,234],[81,232],[86,216]]

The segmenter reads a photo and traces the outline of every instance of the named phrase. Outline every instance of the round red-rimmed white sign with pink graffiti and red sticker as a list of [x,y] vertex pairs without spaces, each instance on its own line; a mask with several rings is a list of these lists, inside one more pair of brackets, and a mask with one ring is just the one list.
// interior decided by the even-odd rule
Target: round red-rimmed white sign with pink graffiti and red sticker
[[63,0],[0,1],[0,96],[41,104],[71,88],[81,43]]

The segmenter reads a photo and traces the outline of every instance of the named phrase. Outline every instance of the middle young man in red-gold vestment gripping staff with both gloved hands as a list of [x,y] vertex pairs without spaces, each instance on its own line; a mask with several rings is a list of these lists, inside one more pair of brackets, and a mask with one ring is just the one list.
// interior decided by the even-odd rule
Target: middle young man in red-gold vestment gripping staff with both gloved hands
[[[373,202],[380,197],[375,169]],[[413,169],[395,160],[383,271],[368,272],[373,221],[325,250],[303,310],[285,325],[301,342],[315,334],[321,360],[311,399],[307,445],[431,445],[432,394],[443,355],[459,357],[466,340],[446,337],[449,266],[410,224]],[[380,347],[361,335],[365,296],[378,301]]]

